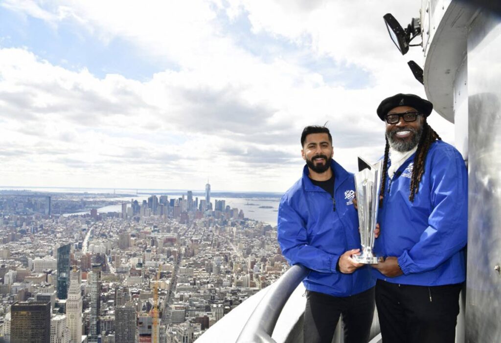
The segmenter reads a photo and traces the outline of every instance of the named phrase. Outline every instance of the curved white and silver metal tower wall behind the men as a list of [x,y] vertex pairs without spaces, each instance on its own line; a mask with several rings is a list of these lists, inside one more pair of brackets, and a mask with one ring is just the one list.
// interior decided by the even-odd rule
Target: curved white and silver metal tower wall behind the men
[[456,341],[501,342],[501,17],[423,0],[424,86],[468,163],[467,277]]

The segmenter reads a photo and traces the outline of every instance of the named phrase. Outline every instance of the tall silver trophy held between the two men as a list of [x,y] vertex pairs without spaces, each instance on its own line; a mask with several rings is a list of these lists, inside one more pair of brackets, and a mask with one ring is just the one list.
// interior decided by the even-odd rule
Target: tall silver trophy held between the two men
[[378,258],[372,251],[374,248],[374,229],[376,228],[377,211],[379,209],[379,190],[383,161],[370,164],[358,158],[358,170],[355,174],[357,191],[358,222],[360,226],[360,255],[353,255],[358,263],[375,264]]

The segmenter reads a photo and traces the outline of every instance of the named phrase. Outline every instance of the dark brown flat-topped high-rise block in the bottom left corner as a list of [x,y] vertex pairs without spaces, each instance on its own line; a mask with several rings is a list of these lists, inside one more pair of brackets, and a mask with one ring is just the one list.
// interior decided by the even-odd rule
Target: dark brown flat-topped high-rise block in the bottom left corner
[[50,343],[51,303],[18,301],[11,306],[11,342]]

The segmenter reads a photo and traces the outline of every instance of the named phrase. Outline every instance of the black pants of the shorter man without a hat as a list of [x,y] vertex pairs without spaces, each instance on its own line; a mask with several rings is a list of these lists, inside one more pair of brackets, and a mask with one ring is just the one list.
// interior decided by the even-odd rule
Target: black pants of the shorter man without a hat
[[367,343],[374,316],[374,287],[352,296],[336,297],[307,291],[305,343],[331,343],[343,314],[345,343]]

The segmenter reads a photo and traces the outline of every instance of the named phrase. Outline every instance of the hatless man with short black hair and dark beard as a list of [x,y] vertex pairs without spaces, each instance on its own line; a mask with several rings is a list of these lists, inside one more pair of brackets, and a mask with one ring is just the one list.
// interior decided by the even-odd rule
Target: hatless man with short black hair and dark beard
[[360,254],[353,175],[335,162],[332,136],[324,126],[301,135],[303,176],[282,197],[278,241],[291,264],[310,269],[304,341],[331,343],[343,314],[346,343],[367,343],[374,313],[374,279]]

